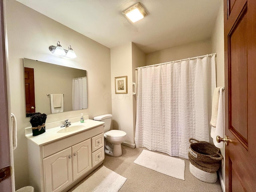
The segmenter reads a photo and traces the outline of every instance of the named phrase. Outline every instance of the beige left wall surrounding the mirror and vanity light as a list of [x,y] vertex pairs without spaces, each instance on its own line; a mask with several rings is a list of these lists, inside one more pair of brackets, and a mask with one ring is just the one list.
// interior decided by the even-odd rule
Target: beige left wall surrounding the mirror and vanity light
[[[78,117],[89,118],[112,113],[110,49],[67,28],[66,26],[16,2],[5,0],[5,18],[8,38],[8,68],[10,76],[11,111],[18,125],[18,147],[14,150],[16,190],[28,183],[27,140],[24,128],[30,127],[25,118],[25,92],[23,58],[50,62],[87,70],[88,109],[50,114],[46,123]],[[86,27],[86,25],[85,25]],[[57,41],[63,48],[72,46],[77,58],[68,59],[53,55],[48,47]],[[129,114],[132,114],[129,113]]]

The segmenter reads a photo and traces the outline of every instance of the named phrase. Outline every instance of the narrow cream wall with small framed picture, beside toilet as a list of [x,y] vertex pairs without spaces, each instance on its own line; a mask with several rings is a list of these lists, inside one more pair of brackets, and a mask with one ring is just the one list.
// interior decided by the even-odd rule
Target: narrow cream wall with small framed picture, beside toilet
[[[111,48],[113,129],[126,132],[126,142],[134,144],[132,105],[132,42]],[[115,94],[115,77],[127,76],[128,94]]]

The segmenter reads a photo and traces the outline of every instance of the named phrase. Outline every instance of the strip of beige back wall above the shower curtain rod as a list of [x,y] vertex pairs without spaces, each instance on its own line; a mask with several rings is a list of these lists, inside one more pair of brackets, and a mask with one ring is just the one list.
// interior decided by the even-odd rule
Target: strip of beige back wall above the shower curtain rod
[[147,65],[212,53],[211,40],[203,40],[146,54]]

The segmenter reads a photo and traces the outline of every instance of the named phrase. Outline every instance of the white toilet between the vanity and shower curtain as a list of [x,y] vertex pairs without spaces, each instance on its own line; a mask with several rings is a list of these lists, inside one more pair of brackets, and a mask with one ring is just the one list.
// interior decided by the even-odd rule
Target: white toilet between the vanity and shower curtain
[[105,153],[118,157],[122,155],[121,143],[126,140],[126,132],[121,130],[110,130],[112,121],[111,114],[104,114],[93,118],[97,121],[105,122],[104,124],[104,138],[105,138]]

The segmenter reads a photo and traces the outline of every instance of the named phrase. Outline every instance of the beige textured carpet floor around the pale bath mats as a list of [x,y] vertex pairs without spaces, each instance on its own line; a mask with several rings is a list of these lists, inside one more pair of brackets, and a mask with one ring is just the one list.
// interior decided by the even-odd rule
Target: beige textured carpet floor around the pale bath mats
[[[222,192],[219,180],[216,183],[206,183],[195,178],[189,171],[188,160],[185,160],[185,180],[173,178],[135,164],[134,160],[144,149],[147,150],[146,148],[132,149],[122,146],[122,156],[112,157],[105,155],[103,165],[127,178],[119,192]],[[84,180],[99,168],[94,170]],[[81,182],[84,182],[84,180]],[[76,186],[71,188],[69,192],[74,190]]]

